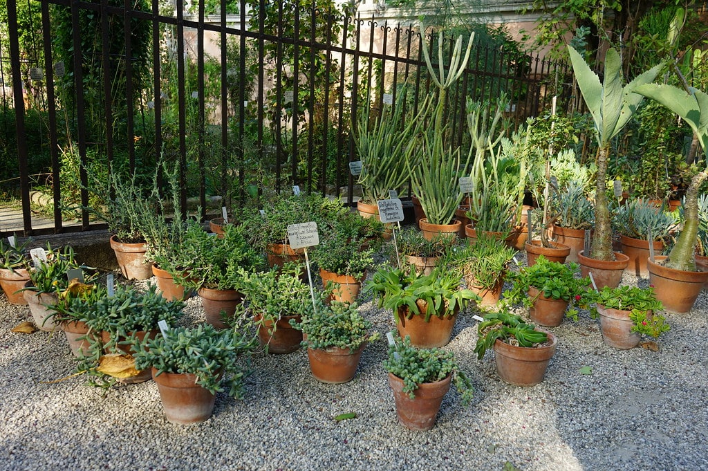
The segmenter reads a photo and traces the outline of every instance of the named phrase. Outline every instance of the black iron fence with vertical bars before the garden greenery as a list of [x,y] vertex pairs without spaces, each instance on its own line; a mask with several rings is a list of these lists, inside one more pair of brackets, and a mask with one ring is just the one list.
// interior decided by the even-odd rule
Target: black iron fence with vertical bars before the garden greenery
[[[415,110],[431,87],[422,42],[433,62],[452,53],[453,38],[443,39],[441,58],[432,32],[352,11],[241,0],[234,12],[222,0],[209,15],[202,0],[188,15],[176,3],[165,11],[159,0],[7,0],[0,131],[9,147],[16,139],[16,154],[0,179],[11,183],[5,198],[18,191],[21,222],[0,222],[1,235],[101,227],[86,210],[101,204],[91,183],[108,171],[149,174],[158,161],[178,168],[183,207],[191,197],[202,212],[210,195],[238,206],[265,187],[295,184],[346,188],[351,203],[353,117],[401,93]],[[554,94],[569,96],[569,81],[565,64],[474,47],[448,94],[457,140],[467,98],[506,94],[518,126]],[[35,188],[48,227],[37,227]]]

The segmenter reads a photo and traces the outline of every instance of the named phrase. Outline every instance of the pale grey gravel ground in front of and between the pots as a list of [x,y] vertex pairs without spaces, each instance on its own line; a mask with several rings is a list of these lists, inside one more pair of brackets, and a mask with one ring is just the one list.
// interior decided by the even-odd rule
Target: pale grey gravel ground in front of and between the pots
[[[107,393],[81,377],[45,383],[74,371],[64,335],[12,333],[29,310],[0,296],[0,470],[708,470],[707,307],[704,290],[691,312],[667,314],[659,352],[605,346],[587,315],[566,321],[551,329],[546,379],[530,388],[501,382],[492,353],[477,361],[464,313],[446,348],[476,399],[462,407],[451,391],[435,428],[413,432],[396,421],[385,340],[344,385],[314,380],[302,350],[256,356],[245,399],[219,394],[211,419],[178,426],[152,381]],[[361,309],[382,334],[393,329],[370,298]],[[198,297],[187,312],[186,324],[203,319]],[[357,417],[333,419],[346,412]]]

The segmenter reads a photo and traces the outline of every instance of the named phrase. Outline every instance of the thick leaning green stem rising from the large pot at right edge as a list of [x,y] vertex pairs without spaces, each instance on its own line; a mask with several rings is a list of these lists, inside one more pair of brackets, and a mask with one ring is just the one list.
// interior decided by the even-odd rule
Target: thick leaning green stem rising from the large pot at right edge
[[683,230],[666,261],[666,266],[683,271],[696,271],[696,240],[698,234],[698,190],[708,178],[708,170],[700,172],[691,178],[691,184],[686,190],[684,203],[685,219]]

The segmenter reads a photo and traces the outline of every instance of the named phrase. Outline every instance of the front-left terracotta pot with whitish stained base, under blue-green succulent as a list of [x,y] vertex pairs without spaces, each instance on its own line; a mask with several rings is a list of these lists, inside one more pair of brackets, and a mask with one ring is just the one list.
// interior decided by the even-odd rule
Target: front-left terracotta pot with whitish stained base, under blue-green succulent
[[195,424],[212,416],[216,395],[196,383],[192,373],[162,373],[152,368],[165,417],[171,424]]

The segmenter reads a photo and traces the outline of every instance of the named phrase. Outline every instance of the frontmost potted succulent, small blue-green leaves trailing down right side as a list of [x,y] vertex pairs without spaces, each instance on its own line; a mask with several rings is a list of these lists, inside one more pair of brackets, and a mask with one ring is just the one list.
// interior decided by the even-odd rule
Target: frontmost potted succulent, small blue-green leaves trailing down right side
[[451,382],[455,382],[463,404],[469,404],[474,395],[472,382],[457,365],[454,353],[416,348],[408,336],[389,346],[384,368],[389,373],[399,423],[411,430],[425,431],[435,426],[435,416]]

